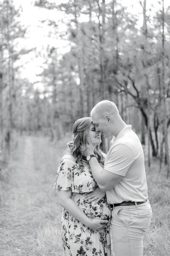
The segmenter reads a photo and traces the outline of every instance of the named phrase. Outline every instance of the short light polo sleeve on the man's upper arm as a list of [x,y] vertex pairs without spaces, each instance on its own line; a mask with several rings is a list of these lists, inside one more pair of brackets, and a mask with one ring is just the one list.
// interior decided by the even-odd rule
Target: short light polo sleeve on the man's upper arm
[[118,144],[112,148],[104,169],[125,176],[134,160],[135,156],[130,147],[125,144]]

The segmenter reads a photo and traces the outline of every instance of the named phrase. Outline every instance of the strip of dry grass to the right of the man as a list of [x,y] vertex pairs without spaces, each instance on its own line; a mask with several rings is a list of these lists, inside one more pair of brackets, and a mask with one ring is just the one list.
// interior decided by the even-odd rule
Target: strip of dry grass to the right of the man
[[149,200],[153,210],[150,228],[144,238],[144,256],[170,255],[170,179],[159,172],[156,159],[147,170]]

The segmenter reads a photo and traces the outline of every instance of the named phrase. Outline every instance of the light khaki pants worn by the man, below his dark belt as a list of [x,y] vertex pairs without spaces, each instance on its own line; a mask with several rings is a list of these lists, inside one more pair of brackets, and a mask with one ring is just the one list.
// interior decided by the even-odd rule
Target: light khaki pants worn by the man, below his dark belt
[[143,236],[150,225],[149,201],[134,206],[116,206],[111,214],[111,232],[116,256],[142,256]]

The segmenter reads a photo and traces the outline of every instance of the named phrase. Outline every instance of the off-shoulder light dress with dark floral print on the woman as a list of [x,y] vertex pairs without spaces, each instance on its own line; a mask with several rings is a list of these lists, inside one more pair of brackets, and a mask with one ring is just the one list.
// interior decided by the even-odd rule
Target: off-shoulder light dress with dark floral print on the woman
[[107,204],[106,197],[96,204],[85,201],[85,196],[96,187],[97,184],[88,166],[79,165],[68,159],[63,159],[59,163],[54,189],[71,191],[71,199],[88,218],[108,220],[104,229],[94,231],[63,209],[62,244],[65,256],[111,256],[111,208]]

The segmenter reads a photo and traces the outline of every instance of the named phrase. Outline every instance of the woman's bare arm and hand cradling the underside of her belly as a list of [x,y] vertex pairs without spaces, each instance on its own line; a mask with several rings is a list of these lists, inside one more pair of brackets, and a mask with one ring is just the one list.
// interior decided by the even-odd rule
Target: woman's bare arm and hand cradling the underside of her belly
[[99,218],[90,219],[85,213],[77,206],[74,200],[71,199],[71,191],[58,191],[59,204],[67,210],[74,218],[82,222],[85,226],[92,230],[102,230],[108,223],[107,220],[101,220]]

